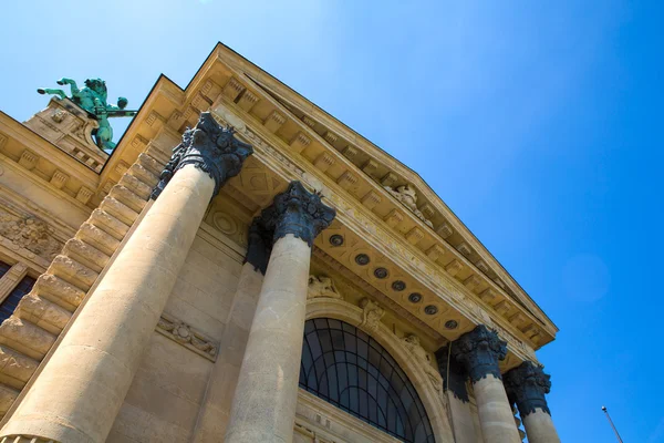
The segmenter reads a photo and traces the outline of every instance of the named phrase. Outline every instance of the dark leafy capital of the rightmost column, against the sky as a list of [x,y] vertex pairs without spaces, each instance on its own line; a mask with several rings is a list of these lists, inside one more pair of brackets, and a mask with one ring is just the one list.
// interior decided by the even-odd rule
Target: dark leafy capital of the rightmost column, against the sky
[[546,374],[541,365],[525,361],[505,374],[504,383],[508,398],[517,403],[521,419],[538,408],[551,415],[544,396],[551,391],[551,375]]

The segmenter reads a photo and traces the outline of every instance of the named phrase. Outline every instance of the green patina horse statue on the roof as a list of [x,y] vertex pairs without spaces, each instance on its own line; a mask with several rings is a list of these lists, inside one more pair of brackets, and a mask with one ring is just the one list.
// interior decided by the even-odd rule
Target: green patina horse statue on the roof
[[113,128],[108,123],[110,117],[131,117],[136,115],[136,111],[126,111],[127,99],[118,97],[117,106],[108,104],[107,102],[107,90],[106,82],[101,79],[87,79],[85,81],[85,87],[79,89],[76,82],[72,79],[60,79],[58,84],[69,84],[72,91],[72,96],[68,97],[62,90],[51,90],[40,87],[37,90],[40,94],[52,94],[58,95],[61,99],[70,99],[72,102],[77,104],[82,110],[87,112],[92,119],[98,122],[100,127],[93,132],[96,145],[104,150],[106,153],[111,153],[115,148],[113,143]]

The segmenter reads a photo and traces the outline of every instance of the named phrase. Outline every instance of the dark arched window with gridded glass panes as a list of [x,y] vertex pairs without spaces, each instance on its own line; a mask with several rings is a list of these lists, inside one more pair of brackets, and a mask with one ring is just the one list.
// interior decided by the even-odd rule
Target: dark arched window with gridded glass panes
[[349,323],[307,321],[300,387],[404,442],[435,442],[404,371],[377,341]]

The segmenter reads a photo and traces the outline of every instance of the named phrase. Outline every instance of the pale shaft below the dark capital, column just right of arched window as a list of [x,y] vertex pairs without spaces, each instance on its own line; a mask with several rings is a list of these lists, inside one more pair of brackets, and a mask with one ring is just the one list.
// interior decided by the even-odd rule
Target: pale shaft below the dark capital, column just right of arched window
[[519,430],[502,387],[492,374],[473,384],[485,443],[519,443]]

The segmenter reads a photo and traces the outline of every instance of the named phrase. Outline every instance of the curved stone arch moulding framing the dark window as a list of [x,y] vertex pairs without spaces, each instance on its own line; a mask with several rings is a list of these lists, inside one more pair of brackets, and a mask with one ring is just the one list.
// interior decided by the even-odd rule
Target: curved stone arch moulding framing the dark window
[[[396,365],[412,382],[416,394],[419,396],[426,415],[428,416],[433,435],[437,443],[453,442],[452,427],[447,416],[447,404],[442,393],[430,383],[425,370],[413,359],[396,337],[385,324],[376,329],[364,329],[362,324],[363,310],[343,300],[330,298],[311,299],[307,303],[307,320],[330,318],[341,320],[375,339],[394,359]],[[378,426],[376,426],[378,427]],[[426,440],[425,440],[426,441]],[[430,440],[434,441],[434,440]]]

